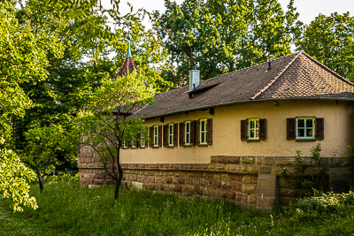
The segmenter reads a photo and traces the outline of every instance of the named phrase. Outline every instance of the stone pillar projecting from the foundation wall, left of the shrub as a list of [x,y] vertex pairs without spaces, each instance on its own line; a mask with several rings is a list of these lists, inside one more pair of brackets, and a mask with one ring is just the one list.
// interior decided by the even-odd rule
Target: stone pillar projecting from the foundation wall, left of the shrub
[[257,193],[257,209],[273,209],[278,200],[277,176],[259,173]]

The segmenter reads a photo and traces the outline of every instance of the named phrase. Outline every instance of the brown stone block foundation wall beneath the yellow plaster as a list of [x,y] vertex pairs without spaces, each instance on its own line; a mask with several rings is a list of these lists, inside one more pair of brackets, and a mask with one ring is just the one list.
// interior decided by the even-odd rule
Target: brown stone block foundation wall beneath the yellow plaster
[[[112,184],[103,164],[92,152],[78,157],[81,187]],[[282,168],[292,170],[295,157],[211,156],[210,164],[121,164],[122,184],[156,192],[221,198],[244,207],[272,209],[275,202],[287,204],[304,194],[281,178]],[[334,189],[341,168],[328,175],[323,185]],[[335,179],[330,178],[335,176]],[[341,177],[342,178],[342,177]],[[345,178],[344,178],[345,179]]]

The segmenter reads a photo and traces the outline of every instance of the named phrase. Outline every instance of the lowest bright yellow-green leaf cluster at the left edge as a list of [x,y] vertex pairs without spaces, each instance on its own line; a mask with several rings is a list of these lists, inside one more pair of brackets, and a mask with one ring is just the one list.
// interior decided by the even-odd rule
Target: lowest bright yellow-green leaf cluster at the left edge
[[0,149],[0,196],[11,198],[13,211],[23,211],[23,206],[37,208],[35,197],[30,197],[27,180],[34,180],[35,173],[19,160],[12,150]]

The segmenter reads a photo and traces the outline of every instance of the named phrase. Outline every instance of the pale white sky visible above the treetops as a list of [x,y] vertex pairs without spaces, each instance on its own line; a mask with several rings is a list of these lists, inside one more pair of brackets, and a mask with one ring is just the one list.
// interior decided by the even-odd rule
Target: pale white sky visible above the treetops
[[[127,0],[122,0],[121,3],[126,3]],[[146,11],[158,10],[165,11],[164,0],[129,0],[133,4],[134,9],[144,8]],[[181,4],[183,0],[176,0],[177,4]],[[284,10],[290,0],[278,0]],[[339,14],[350,11],[350,15],[354,14],[354,0],[295,0],[294,5],[296,11],[300,13],[299,20],[308,25],[315,19],[319,13],[329,16],[331,13],[337,11]],[[124,13],[125,9],[121,6],[120,13]],[[126,10],[127,11],[127,10]],[[144,22],[146,27],[149,27],[149,22]]]

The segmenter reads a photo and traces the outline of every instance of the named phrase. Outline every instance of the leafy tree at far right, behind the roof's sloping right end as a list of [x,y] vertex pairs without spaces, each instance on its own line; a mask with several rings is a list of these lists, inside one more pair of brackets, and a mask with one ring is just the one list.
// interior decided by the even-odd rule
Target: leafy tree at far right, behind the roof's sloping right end
[[319,14],[297,42],[298,49],[317,59],[320,63],[354,81],[354,18],[350,13],[330,16]]

